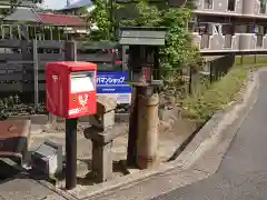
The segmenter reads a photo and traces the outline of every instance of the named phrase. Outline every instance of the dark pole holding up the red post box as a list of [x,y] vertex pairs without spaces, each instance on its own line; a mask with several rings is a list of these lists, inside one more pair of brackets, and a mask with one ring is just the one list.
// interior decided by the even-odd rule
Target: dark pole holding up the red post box
[[77,122],[78,119],[66,119],[66,189],[77,184]]

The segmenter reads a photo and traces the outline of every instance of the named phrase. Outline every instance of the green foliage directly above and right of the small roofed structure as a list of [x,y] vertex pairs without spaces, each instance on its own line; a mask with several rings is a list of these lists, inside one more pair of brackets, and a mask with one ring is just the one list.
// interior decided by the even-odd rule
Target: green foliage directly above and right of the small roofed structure
[[[188,2],[189,3],[189,2]],[[190,2],[192,6],[192,2]],[[136,27],[166,27],[166,46],[161,48],[161,67],[179,68],[184,64],[195,64],[200,60],[199,51],[192,47],[191,34],[188,30],[188,22],[191,20],[191,9],[164,8],[150,6],[146,0],[137,4],[138,18],[123,20],[123,26]]]

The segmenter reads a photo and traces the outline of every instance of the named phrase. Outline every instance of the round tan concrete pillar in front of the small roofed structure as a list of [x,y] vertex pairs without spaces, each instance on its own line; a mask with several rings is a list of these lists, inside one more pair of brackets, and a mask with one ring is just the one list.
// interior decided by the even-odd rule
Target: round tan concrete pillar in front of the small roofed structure
[[158,146],[158,93],[150,93],[149,87],[138,94],[137,166],[151,168],[157,161]]

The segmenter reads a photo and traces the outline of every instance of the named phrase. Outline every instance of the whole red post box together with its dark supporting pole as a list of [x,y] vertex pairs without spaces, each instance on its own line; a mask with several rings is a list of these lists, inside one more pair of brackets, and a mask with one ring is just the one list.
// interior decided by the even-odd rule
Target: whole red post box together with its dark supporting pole
[[97,64],[51,62],[46,68],[47,109],[66,118],[66,189],[77,184],[77,123],[97,111]]

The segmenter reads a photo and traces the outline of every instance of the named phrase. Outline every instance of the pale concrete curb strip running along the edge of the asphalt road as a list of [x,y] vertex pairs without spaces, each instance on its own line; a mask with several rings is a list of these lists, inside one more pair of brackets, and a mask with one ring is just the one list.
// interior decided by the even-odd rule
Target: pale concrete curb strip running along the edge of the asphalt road
[[179,154],[179,157],[158,168],[142,170],[108,182],[92,186],[87,189],[78,189],[71,192],[78,199],[96,198],[99,194],[110,193],[116,189],[128,188],[159,174],[170,173],[177,170],[201,171],[207,178],[216,172],[224,154],[236,136],[246,116],[257,101],[259,88],[259,71],[250,73],[243,94],[243,101],[229,104],[225,111],[216,113],[196,134],[192,141]]

